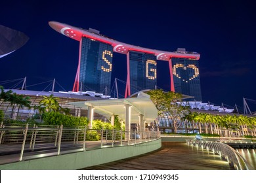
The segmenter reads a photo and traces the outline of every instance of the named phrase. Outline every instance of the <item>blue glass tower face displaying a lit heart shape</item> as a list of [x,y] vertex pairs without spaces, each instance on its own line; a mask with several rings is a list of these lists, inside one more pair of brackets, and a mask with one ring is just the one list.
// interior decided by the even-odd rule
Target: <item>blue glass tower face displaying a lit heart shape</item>
[[[177,52],[182,50],[178,49]],[[194,96],[196,101],[202,101],[198,60],[173,58],[172,63],[175,92]]]

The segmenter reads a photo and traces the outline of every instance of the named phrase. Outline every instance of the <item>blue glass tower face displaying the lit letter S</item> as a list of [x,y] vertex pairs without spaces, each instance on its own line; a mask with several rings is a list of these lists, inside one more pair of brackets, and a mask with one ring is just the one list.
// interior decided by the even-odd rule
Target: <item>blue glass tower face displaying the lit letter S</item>
[[94,91],[110,94],[113,47],[104,42],[83,37],[74,92]]

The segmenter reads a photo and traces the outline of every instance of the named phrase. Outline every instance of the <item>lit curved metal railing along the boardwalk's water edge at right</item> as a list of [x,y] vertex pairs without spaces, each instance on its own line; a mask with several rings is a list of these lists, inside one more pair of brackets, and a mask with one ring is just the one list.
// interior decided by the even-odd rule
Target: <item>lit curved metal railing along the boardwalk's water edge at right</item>
[[251,167],[247,164],[245,159],[234,150],[232,147],[221,142],[210,142],[210,141],[198,141],[198,140],[186,140],[186,143],[191,146],[197,146],[211,150],[216,154],[219,154],[222,158],[226,159],[230,165],[236,169],[248,170]]

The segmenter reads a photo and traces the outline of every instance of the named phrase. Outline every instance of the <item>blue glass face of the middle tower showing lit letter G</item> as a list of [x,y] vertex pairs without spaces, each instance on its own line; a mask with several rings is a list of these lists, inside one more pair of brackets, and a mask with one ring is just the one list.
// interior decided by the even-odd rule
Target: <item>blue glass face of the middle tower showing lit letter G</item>
[[145,89],[154,89],[156,78],[156,56],[143,52],[130,52],[131,94]]

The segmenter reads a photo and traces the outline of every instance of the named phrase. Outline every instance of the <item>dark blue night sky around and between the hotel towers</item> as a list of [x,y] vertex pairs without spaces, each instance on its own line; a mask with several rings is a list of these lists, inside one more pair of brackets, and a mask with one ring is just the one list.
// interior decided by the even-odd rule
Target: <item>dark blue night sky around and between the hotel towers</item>
[[[79,42],[54,31],[48,22],[56,21],[91,27],[136,46],[198,52],[203,102],[242,107],[243,97],[256,99],[253,3],[165,1],[1,1],[0,24],[30,40],[0,59],[0,82],[27,76],[31,86],[56,78],[65,90],[72,90]],[[126,57],[114,53],[112,78],[125,81],[126,73]],[[158,86],[169,90],[169,80],[168,63],[158,61]],[[48,84],[28,90],[41,91]]]

